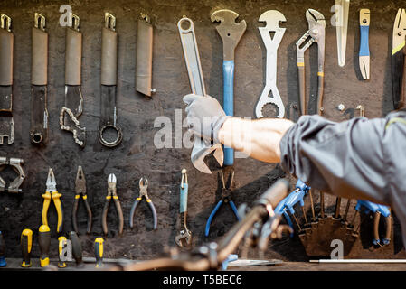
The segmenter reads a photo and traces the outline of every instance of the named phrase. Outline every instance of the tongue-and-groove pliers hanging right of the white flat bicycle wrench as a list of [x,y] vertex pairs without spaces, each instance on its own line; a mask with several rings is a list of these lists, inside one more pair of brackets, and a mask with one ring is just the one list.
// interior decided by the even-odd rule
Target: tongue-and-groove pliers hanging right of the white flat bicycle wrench
[[[317,69],[317,114],[323,114],[323,92],[325,79],[325,42],[326,42],[326,20],[323,14],[314,9],[307,9],[306,18],[308,30],[297,42],[297,71],[299,83],[299,103],[301,114],[307,114],[306,86],[305,86],[305,51],[314,42],[318,48],[318,69]],[[308,41],[307,41],[308,40]],[[305,43],[306,42],[306,43]],[[305,43],[303,45],[303,43]],[[303,46],[302,46],[303,45]]]

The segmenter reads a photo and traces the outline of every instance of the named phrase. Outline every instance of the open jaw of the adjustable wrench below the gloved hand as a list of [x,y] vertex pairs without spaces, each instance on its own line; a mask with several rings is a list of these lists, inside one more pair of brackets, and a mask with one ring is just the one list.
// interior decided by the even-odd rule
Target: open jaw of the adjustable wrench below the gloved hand
[[211,174],[209,167],[204,163],[206,155],[213,153],[217,163],[222,166],[224,162],[224,154],[222,152],[221,144],[205,144],[202,139],[195,138],[194,148],[192,149],[191,160],[194,167],[200,172]]

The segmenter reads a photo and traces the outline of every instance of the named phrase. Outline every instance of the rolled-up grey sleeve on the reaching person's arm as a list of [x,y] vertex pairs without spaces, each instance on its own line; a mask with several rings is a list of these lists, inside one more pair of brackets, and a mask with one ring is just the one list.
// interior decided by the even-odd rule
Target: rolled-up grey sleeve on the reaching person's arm
[[319,191],[390,203],[384,148],[385,118],[335,123],[303,116],[280,142],[280,164]]

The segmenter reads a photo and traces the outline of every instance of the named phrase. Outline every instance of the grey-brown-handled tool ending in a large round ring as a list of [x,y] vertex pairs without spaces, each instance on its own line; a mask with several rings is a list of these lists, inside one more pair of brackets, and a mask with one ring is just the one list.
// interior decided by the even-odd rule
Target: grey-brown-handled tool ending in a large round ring
[[[101,99],[99,142],[108,147],[121,143],[123,134],[117,124],[116,86],[118,35],[116,17],[104,14],[105,26],[101,31]],[[105,137],[107,131],[115,131],[112,140]]]

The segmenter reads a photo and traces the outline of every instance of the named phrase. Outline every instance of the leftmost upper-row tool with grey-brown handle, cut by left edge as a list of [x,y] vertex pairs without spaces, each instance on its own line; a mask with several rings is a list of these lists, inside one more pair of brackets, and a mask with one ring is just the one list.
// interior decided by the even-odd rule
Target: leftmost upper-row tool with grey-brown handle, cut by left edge
[[11,18],[0,15],[0,144],[7,137],[7,144],[14,143],[13,118],[13,48],[14,34]]

